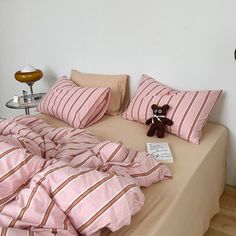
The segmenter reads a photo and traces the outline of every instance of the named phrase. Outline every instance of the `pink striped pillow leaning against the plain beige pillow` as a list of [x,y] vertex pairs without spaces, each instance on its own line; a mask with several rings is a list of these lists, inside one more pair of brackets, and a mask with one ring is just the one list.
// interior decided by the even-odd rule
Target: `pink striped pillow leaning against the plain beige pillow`
[[62,77],[38,105],[38,111],[59,118],[72,127],[84,128],[106,112],[110,88],[78,87]]

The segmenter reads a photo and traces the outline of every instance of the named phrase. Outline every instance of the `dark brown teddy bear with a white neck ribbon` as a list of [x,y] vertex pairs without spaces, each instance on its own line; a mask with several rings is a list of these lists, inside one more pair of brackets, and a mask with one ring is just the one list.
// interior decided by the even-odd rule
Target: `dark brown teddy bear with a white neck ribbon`
[[157,137],[163,138],[165,134],[165,126],[166,125],[173,125],[173,121],[166,118],[166,112],[170,108],[169,105],[164,105],[159,107],[156,104],[151,106],[153,110],[153,117],[146,121],[146,125],[150,125],[151,127],[147,132],[147,136],[151,137],[157,131]]

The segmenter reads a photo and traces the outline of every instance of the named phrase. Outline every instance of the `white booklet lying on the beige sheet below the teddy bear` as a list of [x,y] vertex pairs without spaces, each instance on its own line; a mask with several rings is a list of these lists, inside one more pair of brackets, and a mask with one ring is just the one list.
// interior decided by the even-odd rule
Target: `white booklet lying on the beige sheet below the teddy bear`
[[168,143],[147,143],[147,152],[162,163],[174,162]]

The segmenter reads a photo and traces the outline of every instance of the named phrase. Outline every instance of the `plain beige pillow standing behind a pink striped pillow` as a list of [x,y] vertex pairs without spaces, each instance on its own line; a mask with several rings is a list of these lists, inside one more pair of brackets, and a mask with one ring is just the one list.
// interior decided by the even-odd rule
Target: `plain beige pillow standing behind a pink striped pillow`
[[86,74],[72,70],[71,80],[81,87],[110,87],[111,98],[106,114],[118,115],[129,103],[127,75]]

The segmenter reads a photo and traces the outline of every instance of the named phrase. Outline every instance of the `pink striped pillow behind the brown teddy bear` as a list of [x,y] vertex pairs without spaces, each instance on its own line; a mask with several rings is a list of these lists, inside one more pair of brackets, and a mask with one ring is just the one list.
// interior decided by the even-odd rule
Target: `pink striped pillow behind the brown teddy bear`
[[175,91],[160,84],[150,76],[143,75],[137,93],[123,118],[141,123],[152,117],[152,104],[169,104],[167,118],[174,124],[168,132],[189,142],[199,143],[201,129],[217,102],[221,90]]

